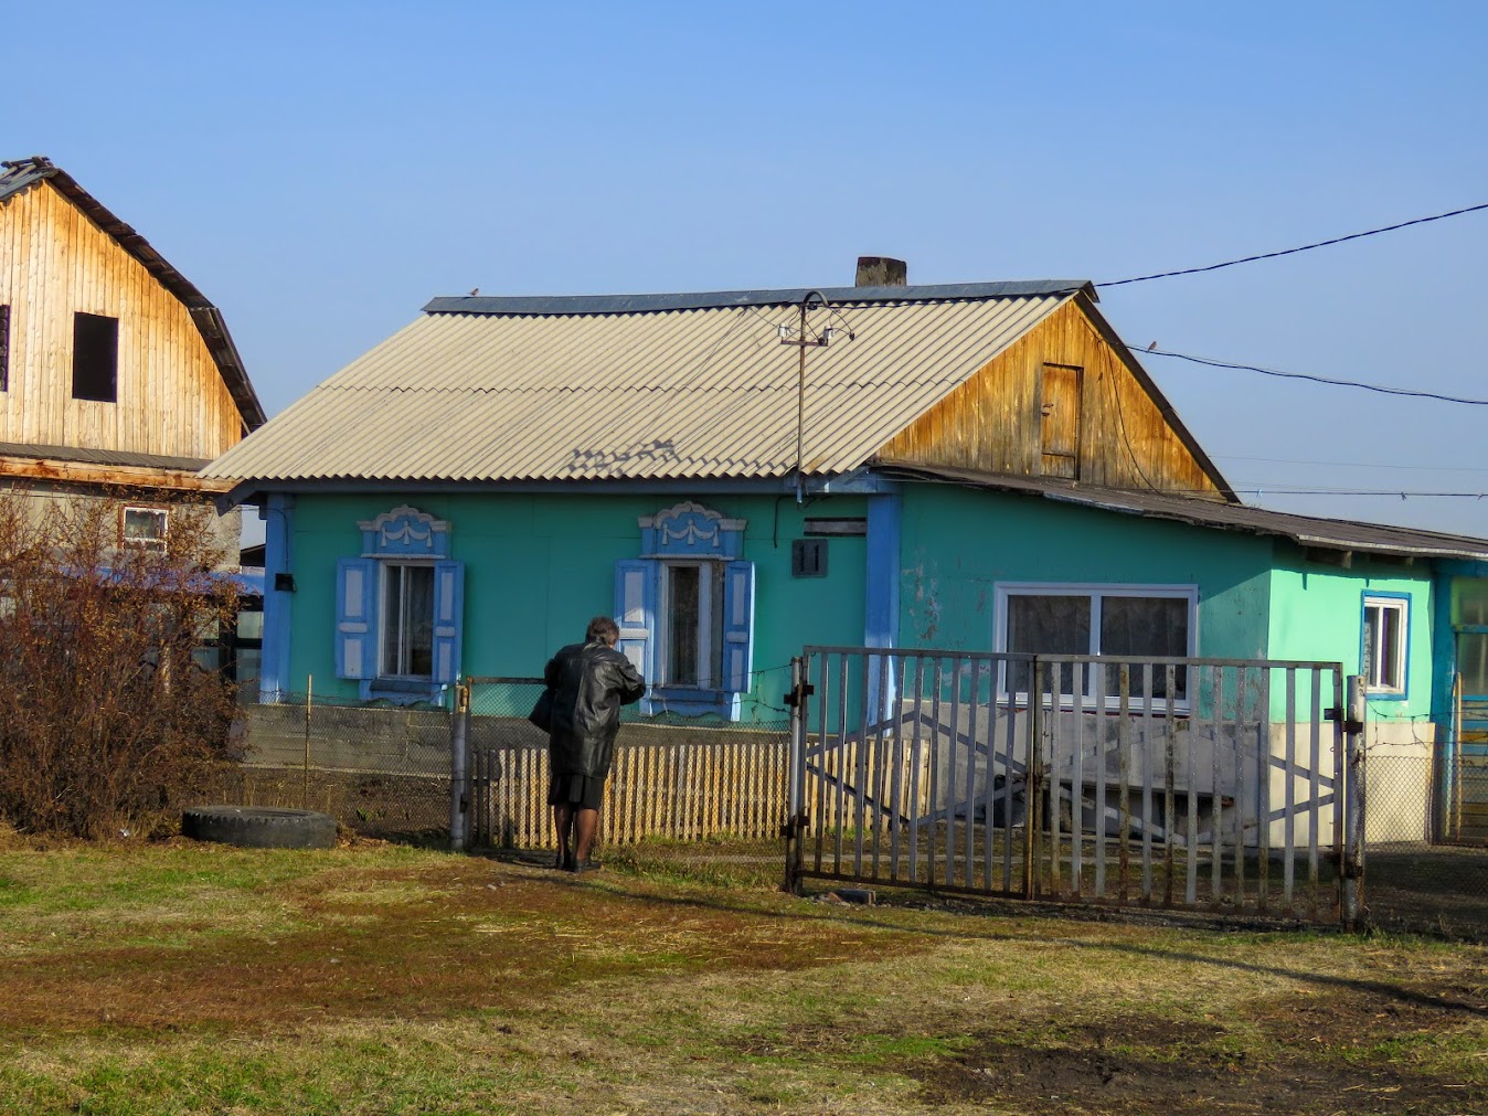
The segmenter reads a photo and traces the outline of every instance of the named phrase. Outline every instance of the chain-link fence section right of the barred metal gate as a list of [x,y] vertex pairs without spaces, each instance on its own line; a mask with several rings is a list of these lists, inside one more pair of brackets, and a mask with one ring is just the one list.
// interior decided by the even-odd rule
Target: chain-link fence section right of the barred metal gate
[[1370,704],[1364,722],[1364,888],[1369,926],[1488,940],[1488,802],[1454,734]]

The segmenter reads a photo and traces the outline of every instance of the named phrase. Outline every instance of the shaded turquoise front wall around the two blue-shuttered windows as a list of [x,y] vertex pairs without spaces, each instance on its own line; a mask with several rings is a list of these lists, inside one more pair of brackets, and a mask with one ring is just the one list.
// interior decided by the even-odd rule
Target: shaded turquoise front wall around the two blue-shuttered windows
[[[615,612],[615,562],[635,558],[644,515],[686,497],[646,496],[301,496],[290,565],[295,574],[290,677],[304,690],[351,698],[357,684],[335,677],[336,559],[362,549],[357,521],[408,503],[451,524],[451,557],[466,564],[463,673],[537,676],[562,644],[583,637],[591,616]],[[696,498],[696,497],[695,497]],[[754,562],[756,702],[781,705],[792,655],[805,643],[862,643],[865,539],[829,542],[827,576],[790,576],[790,542],[804,518],[863,516],[862,497],[823,497],[805,509],[793,498],[707,497],[698,503],[747,521],[744,558]],[[745,702],[744,716],[783,714]]]

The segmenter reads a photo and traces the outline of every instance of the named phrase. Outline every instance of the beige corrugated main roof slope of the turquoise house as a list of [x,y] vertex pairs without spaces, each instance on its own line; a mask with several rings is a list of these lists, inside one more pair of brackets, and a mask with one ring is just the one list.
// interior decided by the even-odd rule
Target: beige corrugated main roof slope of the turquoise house
[[[809,475],[862,466],[1088,284],[823,290]],[[804,292],[436,299],[204,476],[254,482],[783,478]],[[644,304],[644,305],[643,305]],[[848,333],[853,339],[848,339]]]

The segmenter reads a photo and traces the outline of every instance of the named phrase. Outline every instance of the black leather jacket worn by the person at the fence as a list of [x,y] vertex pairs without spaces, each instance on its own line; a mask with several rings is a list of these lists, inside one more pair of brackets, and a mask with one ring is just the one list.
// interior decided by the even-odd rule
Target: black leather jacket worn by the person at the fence
[[620,705],[640,701],[644,679],[613,647],[571,643],[548,661],[543,680],[554,692],[548,745],[554,771],[604,778],[620,731]]

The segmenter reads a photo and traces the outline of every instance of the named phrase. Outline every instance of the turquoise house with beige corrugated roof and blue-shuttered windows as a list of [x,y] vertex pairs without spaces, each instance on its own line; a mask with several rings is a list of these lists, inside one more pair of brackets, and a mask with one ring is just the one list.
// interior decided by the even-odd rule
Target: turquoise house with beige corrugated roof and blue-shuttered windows
[[[214,461],[262,690],[445,702],[613,615],[647,714],[805,644],[1329,659],[1430,756],[1488,542],[1245,507],[1085,281],[437,298]],[[1481,682],[1479,682],[1481,680]]]

